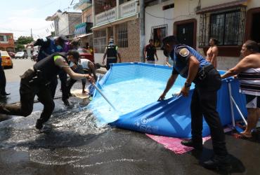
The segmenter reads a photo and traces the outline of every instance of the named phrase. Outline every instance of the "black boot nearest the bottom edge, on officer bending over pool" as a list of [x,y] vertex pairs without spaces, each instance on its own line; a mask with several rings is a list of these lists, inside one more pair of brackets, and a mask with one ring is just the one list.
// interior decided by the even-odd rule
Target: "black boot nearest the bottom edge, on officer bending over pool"
[[228,155],[214,155],[210,160],[202,163],[207,169],[230,170],[230,157]]

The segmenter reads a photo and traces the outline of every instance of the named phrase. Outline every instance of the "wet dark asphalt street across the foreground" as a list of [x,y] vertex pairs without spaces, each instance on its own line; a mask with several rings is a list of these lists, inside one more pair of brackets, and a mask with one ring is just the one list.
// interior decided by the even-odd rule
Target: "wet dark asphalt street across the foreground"
[[[18,102],[18,89],[18,82],[8,83],[11,96],[0,102]],[[145,134],[100,125],[91,111],[79,111],[82,99],[70,98],[69,109],[60,99],[55,102],[42,132],[34,129],[39,103],[27,118],[0,114],[0,174],[260,174],[256,141],[226,134],[232,170],[216,172],[199,165],[212,156],[211,140],[200,158],[193,152],[176,155]]]

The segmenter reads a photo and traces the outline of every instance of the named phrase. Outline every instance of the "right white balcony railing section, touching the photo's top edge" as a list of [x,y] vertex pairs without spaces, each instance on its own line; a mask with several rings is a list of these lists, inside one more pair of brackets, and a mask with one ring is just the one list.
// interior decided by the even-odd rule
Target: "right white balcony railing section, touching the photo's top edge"
[[129,1],[120,5],[120,18],[138,13],[136,0]]

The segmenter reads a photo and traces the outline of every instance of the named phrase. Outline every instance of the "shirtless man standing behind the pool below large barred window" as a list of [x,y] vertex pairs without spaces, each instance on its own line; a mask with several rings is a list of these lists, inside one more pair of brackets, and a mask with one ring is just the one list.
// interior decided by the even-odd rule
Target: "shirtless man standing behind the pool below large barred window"
[[216,46],[216,44],[218,43],[218,41],[215,38],[210,38],[209,40],[209,49],[207,50],[207,61],[210,62],[214,68],[216,69],[217,66],[217,60],[216,60],[216,56],[218,56],[219,54],[219,49]]

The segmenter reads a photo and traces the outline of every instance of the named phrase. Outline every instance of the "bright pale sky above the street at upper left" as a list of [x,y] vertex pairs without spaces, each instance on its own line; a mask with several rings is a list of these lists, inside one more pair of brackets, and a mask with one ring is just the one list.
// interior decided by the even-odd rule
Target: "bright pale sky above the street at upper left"
[[[79,0],[0,0],[0,33],[32,36],[34,39],[49,36],[54,31],[52,22],[45,19],[57,10],[74,12],[74,3]],[[78,11],[80,12],[80,11]]]

